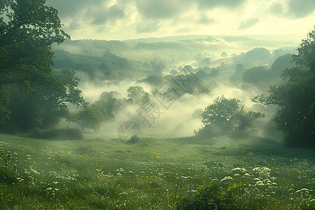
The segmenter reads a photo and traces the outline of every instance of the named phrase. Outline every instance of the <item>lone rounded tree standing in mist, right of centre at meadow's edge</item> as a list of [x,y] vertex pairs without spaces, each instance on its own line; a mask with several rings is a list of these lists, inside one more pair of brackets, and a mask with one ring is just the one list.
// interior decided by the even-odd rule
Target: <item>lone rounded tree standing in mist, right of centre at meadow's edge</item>
[[[206,130],[214,130],[214,127],[220,127],[221,130],[248,131],[253,130],[253,121],[263,118],[265,115],[260,112],[244,111],[244,103],[239,99],[227,99],[224,96],[214,99],[202,113],[202,123]],[[200,132],[202,134],[203,132]]]

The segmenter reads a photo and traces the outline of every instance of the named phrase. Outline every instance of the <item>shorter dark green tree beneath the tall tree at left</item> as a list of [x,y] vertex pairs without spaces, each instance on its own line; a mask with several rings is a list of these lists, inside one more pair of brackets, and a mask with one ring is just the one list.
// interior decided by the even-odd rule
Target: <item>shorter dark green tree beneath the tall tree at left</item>
[[34,87],[36,92],[30,92],[22,85],[10,85],[11,116],[3,123],[2,132],[26,132],[35,127],[47,129],[66,118],[67,104],[87,105],[77,88],[79,79],[73,71],[52,71],[52,75],[61,87]]

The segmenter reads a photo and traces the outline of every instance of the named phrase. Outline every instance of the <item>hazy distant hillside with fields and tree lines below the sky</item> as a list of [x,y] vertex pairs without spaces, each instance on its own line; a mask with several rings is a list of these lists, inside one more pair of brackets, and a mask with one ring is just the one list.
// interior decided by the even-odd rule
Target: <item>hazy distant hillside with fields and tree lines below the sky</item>
[[[243,36],[170,36],[128,41],[67,40],[53,45],[55,69],[73,69],[83,80],[139,80],[148,75],[178,71],[183,66],[217,67],[234,72],[239,63],[246,68],[272,64],[276,57],[295,53],[298,43]],[[263,48],[264,59],[244,53]],[[258,50],[259,51],[259,50]],[[269,52],[267,52],[269,51]],[[244,53],[243,53],[244,52]],[[242,55],[242,53],[244,55]]]

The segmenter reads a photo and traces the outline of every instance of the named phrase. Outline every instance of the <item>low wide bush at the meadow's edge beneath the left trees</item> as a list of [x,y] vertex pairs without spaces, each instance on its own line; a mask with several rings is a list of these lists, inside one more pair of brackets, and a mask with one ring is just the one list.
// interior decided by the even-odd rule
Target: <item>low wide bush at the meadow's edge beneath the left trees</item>
[[35,139],[64,139],[64,140],[80,140],[83,139],[83,134],[76,128],[62,128],[62,129],[34,129],[28,134],[29,137]]

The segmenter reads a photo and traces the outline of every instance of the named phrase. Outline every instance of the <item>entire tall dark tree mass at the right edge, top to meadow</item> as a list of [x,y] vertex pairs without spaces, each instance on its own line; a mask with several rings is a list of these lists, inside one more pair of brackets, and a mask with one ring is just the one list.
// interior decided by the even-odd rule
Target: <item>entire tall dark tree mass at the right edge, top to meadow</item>
[[[314,28],[315,29],[315,28]],[[253,102],[276,105],[274,121],[285,134],[288,146],[315,146],[315,30],[302,40],[298,54],[293,55],[297,66],[281,74],[288,83],[269,87],[267,94],[253,97]]]

